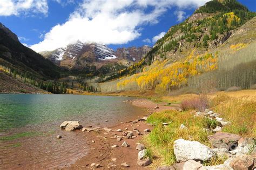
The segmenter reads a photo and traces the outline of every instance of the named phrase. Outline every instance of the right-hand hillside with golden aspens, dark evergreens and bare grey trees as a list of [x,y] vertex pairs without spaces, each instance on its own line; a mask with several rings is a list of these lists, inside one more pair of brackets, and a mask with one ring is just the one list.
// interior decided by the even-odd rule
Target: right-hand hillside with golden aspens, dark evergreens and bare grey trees
[[119,79],[100,84],[100,89],[160,93],[250,89],[256,83],[254,16],[237,1],[208,2],[172,26],[139,63],[114,74],[109,80]]

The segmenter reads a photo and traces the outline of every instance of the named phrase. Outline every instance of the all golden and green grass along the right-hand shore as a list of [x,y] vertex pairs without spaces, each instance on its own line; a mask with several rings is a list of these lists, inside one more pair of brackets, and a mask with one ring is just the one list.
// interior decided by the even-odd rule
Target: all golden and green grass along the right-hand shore
[[[210,107],[213,111],[220,114],[220,117],[231,121],[231,125],[223,128],[224,132],[239,134],[242,137],[256,137],[256,100],[255,90],[242,90],[235,92],[217,92],[208,94]],[[196,94],[185,94],[175,97],[162,97],[162,100],[169,102],[179,102],[184,99],[198,97]],[[147,148],[151,149],[154,161],[153,167],[160,165],[172,165],[176,163],[173,152],[173,143],[179,138],[185,140],[196,140],[210,146],[208,143],[207,132],[203,128],[215,128],[217,121],[204,117],[193,117],[192,111],[163,111],[150,115],[147,123],[154,125],[152,132],[144,137]],[[162,123],[171,122],[168,126]],[[180,130],[180,125],[184,124],[187,128]],[[219,165],[227,158],[214,157],[204,165]]]

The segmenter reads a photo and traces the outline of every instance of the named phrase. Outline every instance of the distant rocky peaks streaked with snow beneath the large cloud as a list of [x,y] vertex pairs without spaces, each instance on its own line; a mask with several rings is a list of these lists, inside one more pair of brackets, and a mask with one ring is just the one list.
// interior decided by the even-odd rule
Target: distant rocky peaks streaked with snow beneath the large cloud
[[[150,46],[119,48],[116,51],[104,44],[84,44],[79,40],[75,44],[58,48],[54,51],[40,52],[45,58],[60,67],[70,70],[105,70],[118,71],[142,59]],[[106,67],[109,68],[106,70]],[[100,71],[101,72],[101,71]],[[103,73],[103,72],[102,72]]]

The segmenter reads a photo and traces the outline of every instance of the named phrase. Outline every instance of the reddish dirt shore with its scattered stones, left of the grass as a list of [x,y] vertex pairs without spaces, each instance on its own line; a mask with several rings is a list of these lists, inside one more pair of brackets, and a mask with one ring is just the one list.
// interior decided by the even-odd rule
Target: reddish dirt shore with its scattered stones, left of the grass
[[81,145],[90,146],[90,151],[85,157],[78,159],[75,164],[61,167],[62,169],[150,169],[149,165],[152,161],[146,158],[146,148],[141,142],[143,136],[148,135],[153,127],[146,124],[145,121],[154,112],[167,109],[180,110],[180,108],[165,106],[165,104],[158,105],[147,99],[124,102],[142,107],[146,114],[136,120],[119,122],[117,126],[113,127],[93,127],[91,125],[82,127],[77,121],[66,121],[60,125],[66,131],[76,129],[79,129],[76,131],[83,131],[87,143]]

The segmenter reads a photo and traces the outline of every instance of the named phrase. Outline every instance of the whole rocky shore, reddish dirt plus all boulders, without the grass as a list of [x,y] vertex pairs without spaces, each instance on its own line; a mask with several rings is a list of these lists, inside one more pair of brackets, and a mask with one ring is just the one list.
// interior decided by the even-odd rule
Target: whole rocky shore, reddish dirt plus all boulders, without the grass
[[[181,108],[178,105],[174,107],[154,104],[146,99],[124,102],[143,107],[147,113],[136,120],[120,122],[114,127],[100,128],[90,125],[82,127],[79,122],[69,121],[60,125],[66,131],[82,130],[88,141],[84,145],[90,146],[90,151],[85,157],[78,159],[75,164],[65,165],[62,169],[254,169],[256,166],[255,139],[221,132],[224,126],[231,123],[221,118],[218,113],[205,110],[205,112],[195,111],[193,116],[205,117],[218,122],[214,129],[204,128],[206,132],[213,132],[213,135],[208,135],[211,147],[198,141],[177,139],[173,145],[177,163],[172,166],[156,167],[152,164],[153,160],[149,158],[147,148],[143,144],[143,137],[153,130],[153,125],[145,121],[154,112],[181,111]],[[166,122],[163,126],[169,124],[171,122]],[[180,125],[180,129],[186,128],[185,125]],[[214,166],[203,165],[205,161],[214,158],[225,158],[225,162]]]

